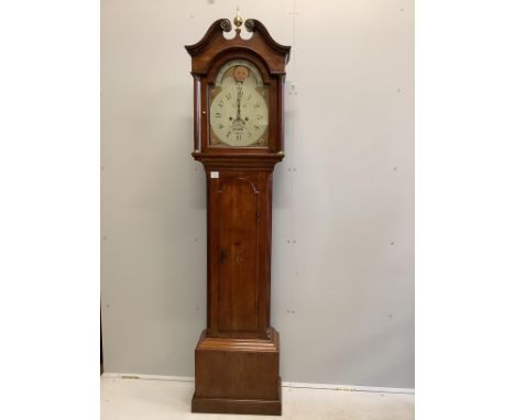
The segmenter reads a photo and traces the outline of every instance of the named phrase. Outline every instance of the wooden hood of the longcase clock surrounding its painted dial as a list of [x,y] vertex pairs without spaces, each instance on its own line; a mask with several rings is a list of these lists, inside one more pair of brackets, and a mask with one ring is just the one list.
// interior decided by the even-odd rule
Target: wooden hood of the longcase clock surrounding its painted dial
[[[202,163],[209,156],[231,156],[232,159],[266,157],[274,159],[275,163],[280,162],[284,156],[283,90],[289,47],[276,43],[264,25],[256,20],[245,22],[245,26],[253,32],[250,40],[243,40],[239,29],[232,40],[227,40],[223,36],[224,29],[222,29],[224,22],[229,21],[223,19],[216,21],[201,41],[186,46],[191,55],[191,75],[194,76],[194,157]],[[230,25],[230,22],[228,24]],[[260,70],[263,84],[267,87],[267,147],[212,147],[209,145],[209,88],[215,85],[220,68],[232,59],[245,59],[252,63]]]

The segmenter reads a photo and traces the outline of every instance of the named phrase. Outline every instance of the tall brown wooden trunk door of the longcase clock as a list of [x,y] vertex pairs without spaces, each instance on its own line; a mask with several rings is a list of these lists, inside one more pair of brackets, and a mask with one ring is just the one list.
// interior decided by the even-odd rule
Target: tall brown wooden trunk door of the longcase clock
[[264,332],[267,265],[262,261],[269,245],[262,217],[266,184],[261,178],[237,172],[210,178],[210,327],[218,335]]

